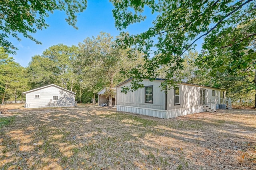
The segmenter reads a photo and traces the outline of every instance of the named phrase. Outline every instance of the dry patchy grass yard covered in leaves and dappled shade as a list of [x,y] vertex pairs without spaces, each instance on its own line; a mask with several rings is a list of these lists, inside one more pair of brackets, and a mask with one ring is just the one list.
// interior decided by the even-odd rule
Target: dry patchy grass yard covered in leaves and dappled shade
[[[10,106],[12,108],[10,108]],[[159,119],[92,105],[8,107],[0,169],[256,170],[256,110]]]

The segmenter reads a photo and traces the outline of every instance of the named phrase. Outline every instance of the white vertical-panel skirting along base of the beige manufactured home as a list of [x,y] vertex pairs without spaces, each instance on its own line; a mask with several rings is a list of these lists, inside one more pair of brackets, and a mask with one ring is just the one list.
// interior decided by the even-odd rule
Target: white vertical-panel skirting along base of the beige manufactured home
[[132,106],[117,106],[116,110],[129,112],[129,113],[136,113],[140,115],[159,117],[162,119],[169,119],[172,117],[204,112],[203,106],[198,106],[193,108],[170,109],[170,110],[149,109],[149,108],[132,107]]

